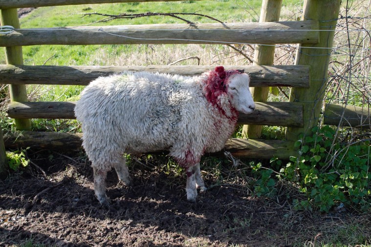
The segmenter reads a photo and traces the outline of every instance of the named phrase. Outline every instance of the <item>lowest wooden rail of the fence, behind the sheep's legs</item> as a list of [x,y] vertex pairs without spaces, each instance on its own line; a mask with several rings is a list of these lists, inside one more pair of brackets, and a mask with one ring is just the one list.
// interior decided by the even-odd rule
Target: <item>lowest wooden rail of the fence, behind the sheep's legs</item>
[[[19,134],[8,133],[4,137],[6,148],[31,147],[32,149],[48,150],[77,150],[81,148],[82,134],[61,132],[34,132],[23,131]],[[270,159],[277,157],[288,159],[296,154],[292,142],[280,140],[244,140],[231,138],[227,141],[224,151],[231,152],[236,157],[249,157],[256,159]],[[160,153],[160,152],[153,152]],[[162,152],[161,152],[162,153]],[[167,153],[166,151],[163,153]]]

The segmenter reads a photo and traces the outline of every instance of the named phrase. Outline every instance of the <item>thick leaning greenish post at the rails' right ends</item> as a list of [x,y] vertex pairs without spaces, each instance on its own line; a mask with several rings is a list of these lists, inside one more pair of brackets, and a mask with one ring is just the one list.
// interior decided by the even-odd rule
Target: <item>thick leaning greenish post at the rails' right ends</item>
[[[319,121],[325,98],[328,62],[334,38],[334,30],[339,16],[341,0],[305,0],[304,20],[320,22],[320,41],[317,44],[301,44],[296,56],[296,64],[307,64],[310,69],[310,87],[292,88],[290,102],[304,105],[304,127],[289,127],[287,140],[297,141],[300,134],[310,134]],[[314,47],[314,48],[313,48]]]

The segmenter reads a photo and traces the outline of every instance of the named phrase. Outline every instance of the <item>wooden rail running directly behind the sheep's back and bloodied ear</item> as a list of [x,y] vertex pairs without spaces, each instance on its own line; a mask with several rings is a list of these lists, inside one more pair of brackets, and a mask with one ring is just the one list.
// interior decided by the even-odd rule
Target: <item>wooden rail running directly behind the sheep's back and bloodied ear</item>
[[[224,66],[244,69],[251,77],[251,86],[309,86],[309,66]],[[87,85],[100,76],[122,71],[148,71],[185,76],[199,75],[215,66],[30,66],[0,65],[0,83]]]

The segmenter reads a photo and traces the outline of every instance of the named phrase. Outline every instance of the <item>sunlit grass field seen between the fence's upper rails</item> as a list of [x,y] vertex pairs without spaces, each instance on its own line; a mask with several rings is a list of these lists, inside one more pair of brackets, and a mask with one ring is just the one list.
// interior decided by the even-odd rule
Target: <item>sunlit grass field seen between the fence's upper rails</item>
[[[302,1],[285,0],[284,6],[302,6]],[[249,0],[205,0],[182,2],[153,3],[110,3],[85,4],[70,6],[43,7],[34,10],[21,19],[22,28],[47,28],[59,26],[79,26],[98,21],[98,16],[82,18],[79,13],[146,13],[146,12],[185,12],[209,15],[224,22],[257,21],[261,1]],[[287,7],[288,8],[288,7]],[[233,15],[231,15],[233,13]],[[289,13],[289,15],[291,15]],[[186,16],[187,20],[206,23],[215,22],[207,18]],[[171,17],[145,17],[136,19],[121,19],[95,25],[128,25],[152,23],[184,23]],[[151,54],[149,51],[153,51]],[[204,50],[207,52],[205,53]],[[24,46],[24,63],[28,65],[147,65],[168,64],[185,56],[200,56],[201,64],[210,64],[210,54],[230,53],[224,46],[218,45],[43,45]],[[144,56],[142,55],[144,54]],[[158,56],[161,54],[163,56]],[[174,55],[173,55],[174,54]],[[0,58],[1,59],[1,58]],[[2,59],[4,59],[2,57]],[[220,58],[218,58],[220,59]],[[216,59],[216,60],[218,60]],[[215,59],[214,59],[215,60]],[[231,61],[226,61],[231,62]]]

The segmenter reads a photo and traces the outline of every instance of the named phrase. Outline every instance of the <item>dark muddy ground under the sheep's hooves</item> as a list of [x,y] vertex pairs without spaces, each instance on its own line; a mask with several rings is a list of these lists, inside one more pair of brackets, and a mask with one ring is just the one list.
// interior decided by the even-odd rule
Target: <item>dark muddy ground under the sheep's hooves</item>
[[109,173],[106,209],[94,197],[92,169],[81,153],[29,158],[32,164],[0,182],[0,246],[303,246],[354,219],[368,221],[371,235],[367,215],[295,211],[285,185],[275,198],[251,196],[238,172],[243,167],[232,164],[223,165],[224,180],[204,174],[209,190],[189,203],[186,177],[161,165],[166,157],[156,158],[160,165],[133,161],[131,187]]

